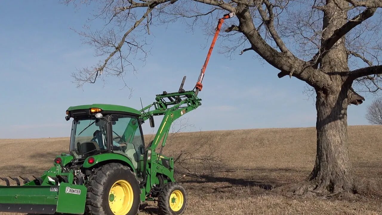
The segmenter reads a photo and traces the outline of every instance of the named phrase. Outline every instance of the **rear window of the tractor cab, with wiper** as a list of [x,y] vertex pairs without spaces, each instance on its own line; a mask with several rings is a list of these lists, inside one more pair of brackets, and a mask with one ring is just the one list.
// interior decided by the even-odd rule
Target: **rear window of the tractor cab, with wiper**
[[70,138],[70,152],[74,158],[86,158],[107,150],[106,127],[104,118],[74,119]]

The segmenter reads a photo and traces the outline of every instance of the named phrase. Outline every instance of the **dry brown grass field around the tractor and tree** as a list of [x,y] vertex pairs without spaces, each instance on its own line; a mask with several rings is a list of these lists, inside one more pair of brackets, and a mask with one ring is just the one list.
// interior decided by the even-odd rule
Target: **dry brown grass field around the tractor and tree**
[[[309,174],[316,153],[315,132],[314,128],[287,128],[178,134],[167,150],[189,148],[204,139],[227,164],[207,179],[177,175],[188,191],[185,215],[382,215],[382,126],[349,127],[350,153],[361,181],[361,195],[319,200],[267,190],[301,181]],[[41,174],[52,165],[55,155],[68,151],[68,141],[0,140],[0,176]],[[140,214],[157,214],[156,206],[149,203]]]

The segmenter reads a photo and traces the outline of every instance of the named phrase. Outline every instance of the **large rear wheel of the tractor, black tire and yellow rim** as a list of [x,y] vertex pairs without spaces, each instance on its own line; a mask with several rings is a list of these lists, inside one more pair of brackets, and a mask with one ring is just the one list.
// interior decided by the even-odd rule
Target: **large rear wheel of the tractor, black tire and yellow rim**
[[89,177],[85,211],[91,215],[136,215],[140,194],[139,182],[127,166],[106,164]]

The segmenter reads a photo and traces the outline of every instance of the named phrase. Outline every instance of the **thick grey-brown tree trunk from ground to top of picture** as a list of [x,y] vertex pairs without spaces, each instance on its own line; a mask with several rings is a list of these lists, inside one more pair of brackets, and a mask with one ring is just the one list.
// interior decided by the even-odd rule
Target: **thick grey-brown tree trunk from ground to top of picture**
[[[326,1],[322,35],[324,39],[328,39],[335,29],[346,23],[347,14],[340,7],[345,8],[347,5],[343,0]],[[314,169],[309,175],[309,189],[322,194],[356,192],[347,130],[348,90],[351,83],[347,83],[340,75],[349,71],[345,37],[339,39],[327,52],[320,68],[331,74],[332,87],[329,91],[316,91],[317,155]]]

